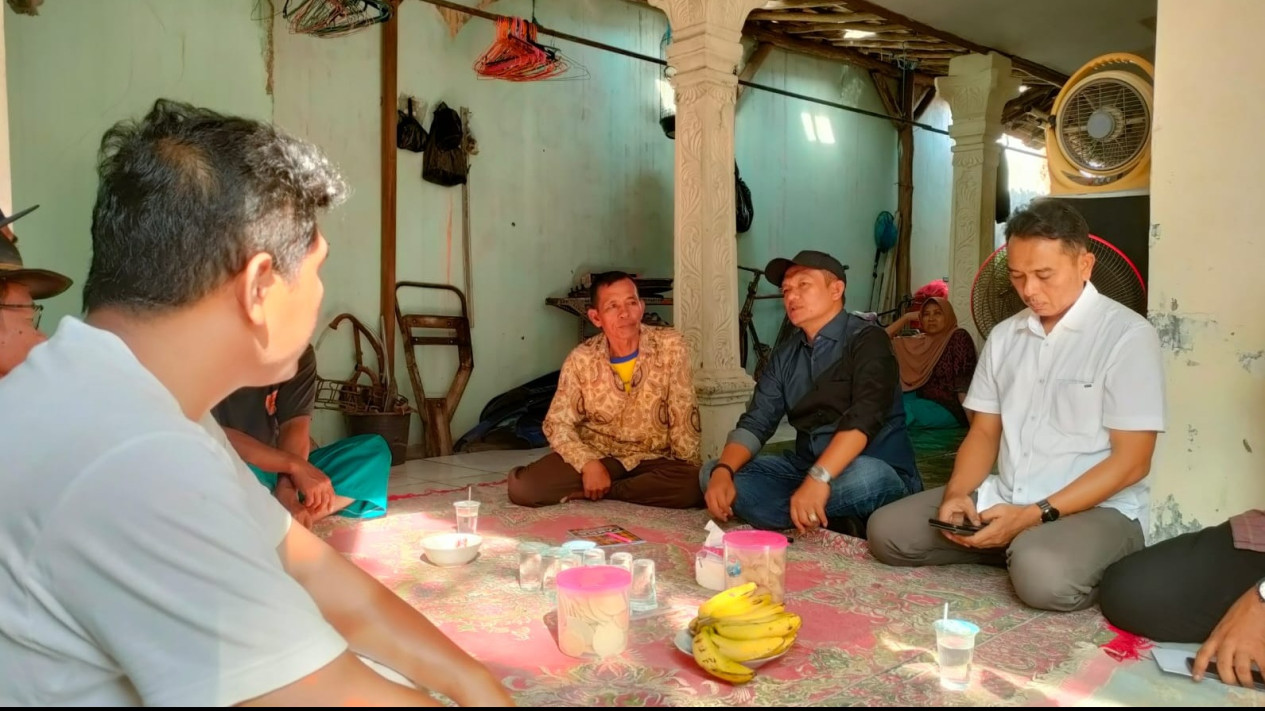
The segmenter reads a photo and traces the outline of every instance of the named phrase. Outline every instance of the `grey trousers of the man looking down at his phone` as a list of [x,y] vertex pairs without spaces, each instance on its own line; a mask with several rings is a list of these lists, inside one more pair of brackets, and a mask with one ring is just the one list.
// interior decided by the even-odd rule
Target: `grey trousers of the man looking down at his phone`
[[875,511],[867,536],[874,557],[888,566],[1006,566],[1025,605],[1068,612],[1093,605],[1103,571],[1144,545],[1137,521],[1095,507],[1034,526],[1004,549],[965,548],[927,525],[944,491],[915,493]]

